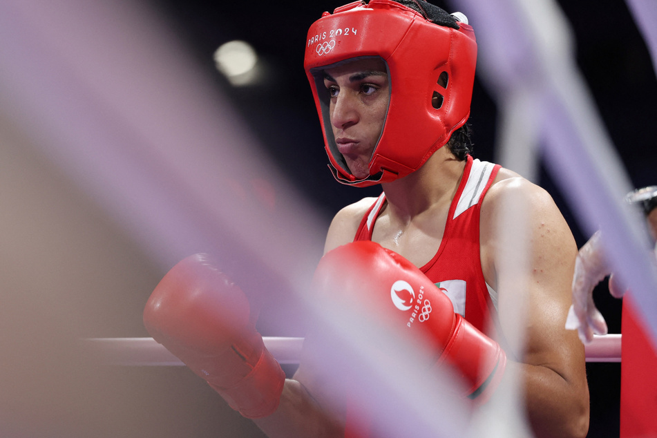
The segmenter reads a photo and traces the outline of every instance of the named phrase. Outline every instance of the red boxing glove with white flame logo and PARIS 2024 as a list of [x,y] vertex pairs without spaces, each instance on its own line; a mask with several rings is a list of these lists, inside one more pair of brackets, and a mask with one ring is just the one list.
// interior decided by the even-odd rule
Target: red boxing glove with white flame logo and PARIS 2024
[[456,314],[448,296],[399,254],[370,241],[343,245],[322,258],[314,285],[351,305],[362,300],[360,312],[417,339],[430,352],[433,368],[450,363],[470,399],[484,403],[502,379],[504,350]]

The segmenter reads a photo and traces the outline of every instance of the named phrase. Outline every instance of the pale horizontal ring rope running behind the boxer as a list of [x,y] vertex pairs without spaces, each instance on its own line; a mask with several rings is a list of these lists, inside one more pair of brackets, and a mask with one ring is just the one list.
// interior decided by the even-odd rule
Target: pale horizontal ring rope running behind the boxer
[[[303,338],[263,337],[267,350],[281,364],[297,364],[301,357]],[[595,336],[586,345],[587,362],[620,362],[620,334]],[[153,338],[93,338],[84,340],[84,349],[109,365],[181,366],[173,356]]]

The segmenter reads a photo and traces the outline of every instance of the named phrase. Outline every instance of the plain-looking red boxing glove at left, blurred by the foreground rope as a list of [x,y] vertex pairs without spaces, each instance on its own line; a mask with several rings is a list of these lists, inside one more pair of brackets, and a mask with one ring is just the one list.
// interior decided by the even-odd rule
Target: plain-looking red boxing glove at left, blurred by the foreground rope
[[285,373],[249,322],[249,301],[205,254],[182,260],[155,287],[144,325],[247,418],[278,408]]

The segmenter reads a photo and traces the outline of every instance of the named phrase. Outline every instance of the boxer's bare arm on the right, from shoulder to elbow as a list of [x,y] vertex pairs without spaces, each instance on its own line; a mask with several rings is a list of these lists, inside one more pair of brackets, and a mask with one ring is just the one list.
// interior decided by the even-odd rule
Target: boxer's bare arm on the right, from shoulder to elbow
[[[504,216],[512,202],[522,202],[528,213],[526,248],[496,228],[504,218],[513,234],[522,230],[517,216]],[[569,227],[546,191],[509,178],[493,185],[482,204],[481,236],[484,276],[499,294],[502,332],[510,339],[517,339],[516,333],[524,336],[524,351],[515,352],[520,359],[508,362],[511,372],[506,375],[523,380],[534,432],[539,437],[585,436],[589,392],[584,346],[575,332],[564,328],[577,255]],[[520,272],[517,254],[526,254]],[[524,321],[524,330],[515,329],[515,321]]]

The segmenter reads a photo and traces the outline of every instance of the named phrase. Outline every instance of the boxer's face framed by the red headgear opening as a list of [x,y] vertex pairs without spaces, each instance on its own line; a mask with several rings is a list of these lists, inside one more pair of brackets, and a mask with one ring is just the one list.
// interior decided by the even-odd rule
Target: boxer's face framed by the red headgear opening
[[356,178],[366,178],[390,103],[385,62],[379,58],[354,59],[325,68],[323,73],[331,96],[329,114],[338,151]]

